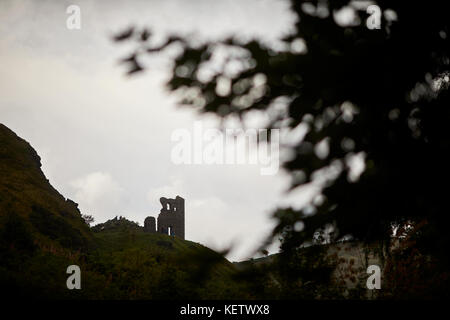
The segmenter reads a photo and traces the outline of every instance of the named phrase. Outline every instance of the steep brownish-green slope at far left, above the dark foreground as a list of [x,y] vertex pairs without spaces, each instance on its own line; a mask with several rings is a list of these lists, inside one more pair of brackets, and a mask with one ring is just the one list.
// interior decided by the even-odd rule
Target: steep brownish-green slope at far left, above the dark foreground
[[[50,185],[36,151],[2,124],[0,224],[3,236],[8,232],[5,227],[20,225],[29,240],[42,246],[86,250],[92,241],[77,204]],[[26,237],[24,234],[20,239],[26,241]]]

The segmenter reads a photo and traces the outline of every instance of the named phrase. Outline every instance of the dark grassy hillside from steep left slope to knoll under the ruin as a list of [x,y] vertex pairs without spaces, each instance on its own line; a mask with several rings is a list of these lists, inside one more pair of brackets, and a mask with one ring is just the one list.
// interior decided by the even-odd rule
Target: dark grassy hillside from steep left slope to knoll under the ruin
[[[81,268],[81,290],[66,269]],[[239,298],[233,265],[194,242],[126,219],[92,229],[55,190],[28,142],[0,124],[0,286],[10,298]]]

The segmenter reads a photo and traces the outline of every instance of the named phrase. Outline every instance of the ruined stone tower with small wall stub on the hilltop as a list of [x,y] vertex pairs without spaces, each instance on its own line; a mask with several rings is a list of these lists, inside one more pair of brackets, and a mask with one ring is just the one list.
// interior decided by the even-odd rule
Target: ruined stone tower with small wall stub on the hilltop
[[184,199],[177,196],[175,199],[160,198],[162,208],[156,221],[154,217],[147,217],[144,221],[144,231],[148,233],[163,233],[176,236],[184,240]]

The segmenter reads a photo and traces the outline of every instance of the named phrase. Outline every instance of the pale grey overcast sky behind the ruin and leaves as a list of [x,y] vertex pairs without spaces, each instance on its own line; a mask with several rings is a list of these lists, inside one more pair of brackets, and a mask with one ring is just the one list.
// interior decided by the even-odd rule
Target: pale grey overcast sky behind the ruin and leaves
[[[66,8],[81,8],[81,29],[66,27]],[[0,122],[31,143],[43,171],[96,223],[116,215],[141,225],[157,216],[160,197],[186,199],[186,239],[213,249],[236,244],[247,258],[274,225],[283,172],[257,165],[176,165],[174,130],[214,119],[180,109],[163,84],[167,63],[126,77],[129,52],[110,36],[134,24],[215,39],[227,34],[276,43],[295,17],[286,1],[1,1]],[[299,205],[297,203],[297,205]],[[272,248],[272,252],[276,248]]]

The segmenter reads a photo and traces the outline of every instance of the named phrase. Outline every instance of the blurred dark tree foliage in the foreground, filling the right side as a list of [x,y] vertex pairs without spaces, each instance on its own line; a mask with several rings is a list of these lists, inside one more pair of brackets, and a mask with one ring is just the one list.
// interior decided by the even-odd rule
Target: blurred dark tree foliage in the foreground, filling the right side
[[[421,244],[445,257],[447,10],[439,1],[377,1],[377,6],[375,17],[358,1],[292,1],[298,21],[282,49],[236,37],[198,44],[176,35],[155,46],[147,29],[135,28],[115,40],[136,41],[136,50],[124,59],[129,74],[145,70],[143,55],[181,48],[167,86],[183,105],[224,119],[260,111],[270,116],[269,128],[308,129],[290,147],[294,156],[284,169],[292,189],[316,184],[322,192],[309,212],[275,213],[273,237],[283,234],[284,251],[330,226],[333,240],[351,235],[389,241],[393,226],[426,220]],[[354,14],[351,23],[339,19],[342,10]],[[368,18],[379,18],[380,28],[368,28]],[[227,59],[205,76],[219,50]],[[362,173],[355,172],[358,159]],[[304,228],[297,232],[298,221]]]

